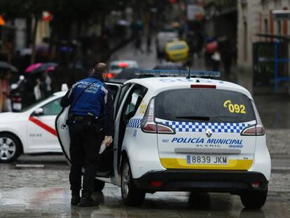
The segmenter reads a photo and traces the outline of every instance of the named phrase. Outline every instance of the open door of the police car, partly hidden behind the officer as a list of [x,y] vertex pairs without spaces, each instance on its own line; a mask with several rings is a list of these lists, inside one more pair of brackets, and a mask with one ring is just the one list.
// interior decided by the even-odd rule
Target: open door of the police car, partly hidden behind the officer
[[[113,94],[114,107],[116,113],[116,107],[118,99],[120,97],[120,90],[123,84],[120,83],[106,83],[109,86],[111,93]],[[67,163],[71,165],[71,158],[69,156],[69,144],[71,139],[69,137],[69,128],[66,124],[69,114],[69,107],[63,108],[60,114],[55,118],[55,130],[57,132],[57,138],[62,147],[62,152],[67,159]],[[96,154],[97,155],[97,154]],[[113,144],[105,149],[100,155],[99,168],[97,170],[96,177],[109,177],[113,172]]]

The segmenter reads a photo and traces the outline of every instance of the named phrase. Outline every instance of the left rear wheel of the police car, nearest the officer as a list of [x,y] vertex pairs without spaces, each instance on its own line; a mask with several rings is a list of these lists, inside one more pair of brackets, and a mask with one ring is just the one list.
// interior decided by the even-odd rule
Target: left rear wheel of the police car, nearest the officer
[[127,206],[140,206],[146,195],[144,191],[137,189],[134,185],[127,159],[121,165],[121,193],[123,204]]

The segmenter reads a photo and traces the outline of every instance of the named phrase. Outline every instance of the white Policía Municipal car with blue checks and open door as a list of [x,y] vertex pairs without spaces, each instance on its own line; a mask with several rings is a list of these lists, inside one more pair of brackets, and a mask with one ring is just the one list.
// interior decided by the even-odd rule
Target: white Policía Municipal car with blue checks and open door
[[[156,191],[206,191],[237,194],[244,207],[262,207],[271,161],[251,94],[212,79],[217,72],[138,74],[153,77],[112,85],[115,135],[101,155],[96,190],[105,182],[120,186],[125,205],[141,205],[146,193]],[[56,126],[70,161],[68,110]]]

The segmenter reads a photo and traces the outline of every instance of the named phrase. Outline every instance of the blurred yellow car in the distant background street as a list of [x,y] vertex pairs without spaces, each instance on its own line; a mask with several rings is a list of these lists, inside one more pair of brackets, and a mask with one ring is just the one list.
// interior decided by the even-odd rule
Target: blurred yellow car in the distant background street
[[167,60],[172,62],[188,62],[189,46],[186,41],[177,40],[166,44],[165,53]]

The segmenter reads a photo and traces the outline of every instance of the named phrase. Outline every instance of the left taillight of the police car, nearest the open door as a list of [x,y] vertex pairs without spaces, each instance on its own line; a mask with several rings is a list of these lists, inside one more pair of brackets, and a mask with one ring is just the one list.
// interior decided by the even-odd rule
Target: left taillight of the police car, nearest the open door
[[175,134],[174,130],[167,125],[156,123],[154,121],[154,98],[149,102],[144,117],[141,122],[141,130],[148,133],[166,133]]

